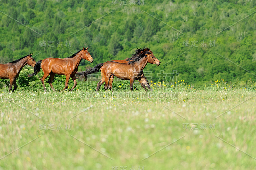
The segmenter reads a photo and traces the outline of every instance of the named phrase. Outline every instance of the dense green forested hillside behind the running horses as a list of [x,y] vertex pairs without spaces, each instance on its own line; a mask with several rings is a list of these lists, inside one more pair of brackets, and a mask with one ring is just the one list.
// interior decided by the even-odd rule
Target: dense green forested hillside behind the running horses
[[161,61],[144,69],[150,81],[174,70],[197,85],[256,81],[256,0],[1,0],[0,9],[0,63],[88,46],[84,70],[146,46]]

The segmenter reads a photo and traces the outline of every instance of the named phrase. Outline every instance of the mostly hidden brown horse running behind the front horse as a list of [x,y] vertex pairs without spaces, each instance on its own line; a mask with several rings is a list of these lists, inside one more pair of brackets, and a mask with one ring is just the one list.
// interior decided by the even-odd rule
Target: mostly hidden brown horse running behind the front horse
[[[152,52],[149,48],[144,47],[144,48],[140,48],[140,49],[135,50],[135,52],[134,52],[133,55],[142,54],[144,51],[149,51],[151,54],[153,54],[153,52]],[[153,55],[154,55],[154,54],[153,54]],[[130,59],[127,58],[127,59],[125,59],[125,60],[112,60],[112,61],[115,61],[115,62],[118,62],[118,63],[128,63],[128,62],[130,61]],[[110,62],[110,61],[106,61],[105,63],[107,63],[107,62]],[[112,75],[112,76],[110,77],[110,79],[109,79],[109,82],[108,82],[108,89],[109,89],[109,90],[112,90],[113,79],[114,79],[114,75]],[[143,80],[145,79],[144,82],[146,82],[146,83],[147,83],[146,85],[149,86],[148,80],[147,80],[147,78],[146,78],[144,75],[143,75],[142,79],[143,79]],[[147,91],[145,85],[144,85],[140,80],[138,80],[138,81],[140,82],[140,85]],[[150,87],[150,86],[149,86],[149,87]],[[150,88],[149,90],[152,91],[151,88]],[[112,90],[112,91],[113,91],[113,90]]]

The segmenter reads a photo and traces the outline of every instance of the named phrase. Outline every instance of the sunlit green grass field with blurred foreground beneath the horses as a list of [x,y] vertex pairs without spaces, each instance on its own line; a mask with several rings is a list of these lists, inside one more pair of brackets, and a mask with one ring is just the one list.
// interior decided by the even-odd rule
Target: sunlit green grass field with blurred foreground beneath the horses
[[0,167],[255,169],[255,86],[151,84],[153,92],[1,89]]

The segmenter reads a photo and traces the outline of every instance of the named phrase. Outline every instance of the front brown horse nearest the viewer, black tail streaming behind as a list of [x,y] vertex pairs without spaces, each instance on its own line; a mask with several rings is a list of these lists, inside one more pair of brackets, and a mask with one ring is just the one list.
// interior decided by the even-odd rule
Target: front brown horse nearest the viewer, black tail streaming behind
[[96,91],[99,90],[100,86],[105,82],[104,89],[108,89],[109,80],[112,75],[122,80],[130,80],[130,90],[133,90],[134,80],[139,80],[151,89],[147,84],[146,79],[143,79],[143,69],[147,63],[160,65],[160,61],[149,51],[142,53],[136,53],[131,58],[127,58],[128,63],[118,63],[115,61],[109,61],[106,63],[99,63],[94,68],[89,68],[83,72],[77,72],[80,77],[86,77],[88,74],[98,72],[101,70],[102,79],[97,84]]

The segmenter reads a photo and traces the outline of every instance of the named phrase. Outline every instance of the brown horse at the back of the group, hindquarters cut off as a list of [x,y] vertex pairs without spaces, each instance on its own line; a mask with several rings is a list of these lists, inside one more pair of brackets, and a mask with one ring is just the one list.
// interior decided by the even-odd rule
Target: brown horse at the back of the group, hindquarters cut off
[[10,79],[9,91],[12,90],[12,84],[14,84],[13,91],[17,89],[16,79],[26,64],[32,67],[36,64],[31,53],[7,64],[0,64],[0,79]]

